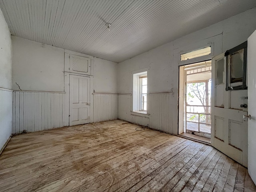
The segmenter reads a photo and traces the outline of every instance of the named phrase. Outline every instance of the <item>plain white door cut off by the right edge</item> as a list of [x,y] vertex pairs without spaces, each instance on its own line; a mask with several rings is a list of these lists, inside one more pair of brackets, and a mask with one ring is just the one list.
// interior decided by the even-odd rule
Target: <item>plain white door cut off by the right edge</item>
[[248,38],[248,172],[256,184],[256,31]]

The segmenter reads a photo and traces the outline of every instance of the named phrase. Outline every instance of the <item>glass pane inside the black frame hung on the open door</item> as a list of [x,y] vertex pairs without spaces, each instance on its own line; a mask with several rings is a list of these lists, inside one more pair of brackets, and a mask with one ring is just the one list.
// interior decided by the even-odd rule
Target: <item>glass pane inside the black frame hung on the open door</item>
[[244,49],[231,55],[231,58],[230,58],[230,68],[231,68],[230,83],[243,81],[243,60],[244,60]]

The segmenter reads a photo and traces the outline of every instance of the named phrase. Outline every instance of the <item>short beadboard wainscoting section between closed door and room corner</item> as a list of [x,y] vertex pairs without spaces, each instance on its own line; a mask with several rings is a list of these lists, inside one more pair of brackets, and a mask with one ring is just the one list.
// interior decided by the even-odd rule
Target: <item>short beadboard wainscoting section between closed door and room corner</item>
[[118,94],[93,94],[94,122],[115,120],[118,118]]

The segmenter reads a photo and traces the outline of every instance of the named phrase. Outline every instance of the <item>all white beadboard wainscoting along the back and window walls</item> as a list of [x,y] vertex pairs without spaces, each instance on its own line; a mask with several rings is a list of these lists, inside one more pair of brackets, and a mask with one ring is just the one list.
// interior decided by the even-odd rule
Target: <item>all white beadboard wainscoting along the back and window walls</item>
[[[14,91],[12,133],[68,126],[64,92]],[[122,119],[172,133],[173,94],[148,94],[148,115],[131,114],[131,94],[93,94],[93,122]]]

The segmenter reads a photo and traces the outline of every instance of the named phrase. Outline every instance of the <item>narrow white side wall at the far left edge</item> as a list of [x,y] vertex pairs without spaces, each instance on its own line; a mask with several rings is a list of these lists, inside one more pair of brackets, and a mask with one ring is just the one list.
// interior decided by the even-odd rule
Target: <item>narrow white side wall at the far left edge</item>
[[12,40],[0,9],[0,149],[12,134]]

